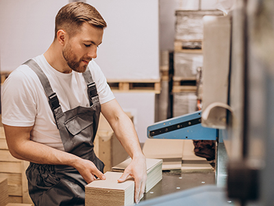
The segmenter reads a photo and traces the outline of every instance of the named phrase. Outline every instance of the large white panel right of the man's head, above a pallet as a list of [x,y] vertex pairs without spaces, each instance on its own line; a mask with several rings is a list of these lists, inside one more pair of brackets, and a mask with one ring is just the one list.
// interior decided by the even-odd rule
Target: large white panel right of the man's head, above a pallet
[[158,0],[87,0],[108,27],[95,60],[106,78],[159,78]]

